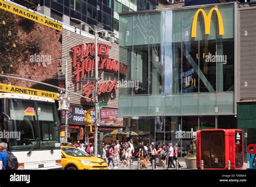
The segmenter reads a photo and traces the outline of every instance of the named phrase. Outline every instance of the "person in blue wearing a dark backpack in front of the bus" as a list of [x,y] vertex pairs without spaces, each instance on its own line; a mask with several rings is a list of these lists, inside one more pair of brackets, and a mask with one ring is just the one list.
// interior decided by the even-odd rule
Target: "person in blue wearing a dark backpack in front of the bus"
[[0,170],[18,169],[18,159],[7,150],[7,143],[0,143]]

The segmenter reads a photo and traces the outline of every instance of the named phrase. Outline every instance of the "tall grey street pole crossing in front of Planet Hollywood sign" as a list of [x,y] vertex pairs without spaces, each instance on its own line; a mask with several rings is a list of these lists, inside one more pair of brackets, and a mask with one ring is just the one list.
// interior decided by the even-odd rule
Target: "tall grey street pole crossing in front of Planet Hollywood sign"
[[98,102],[98,32],[95,31],[95,135],[94,155],[98,157],[98,124],[99,124],[99,102]]

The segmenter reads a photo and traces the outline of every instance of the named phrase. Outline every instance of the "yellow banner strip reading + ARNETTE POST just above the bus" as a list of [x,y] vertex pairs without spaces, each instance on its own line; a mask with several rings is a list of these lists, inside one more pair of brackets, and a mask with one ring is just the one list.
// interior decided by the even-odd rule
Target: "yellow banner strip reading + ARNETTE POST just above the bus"
[[8,93],[21,93],[25,95],[33,95],[39,97],[47,97],[58,100],[56,92],[37,90],[32,88],[18,87],[16,85],[9,85],[0,83],[0,92],[8,92]]

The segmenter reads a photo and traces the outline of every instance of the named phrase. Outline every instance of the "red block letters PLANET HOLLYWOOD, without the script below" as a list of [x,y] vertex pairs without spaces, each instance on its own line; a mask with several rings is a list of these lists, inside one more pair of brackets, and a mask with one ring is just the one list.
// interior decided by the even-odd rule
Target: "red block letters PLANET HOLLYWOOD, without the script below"
[[[80,78],[84,78],[85,72],[95,69],[95,59],[93,57],[95,53],[95,45],[87,43],[86,49],[84,48],[84,44],[71,48],[71,51],[73,52],[73,75],[76,76],[76,82],[79,82]],[[110,59],[108,57],[110,49],[111,46],[98,44],[98,69],[112,70],[116,73],[118,73],[119,69],[119,73],[125,75],[127,73],[126,64],[119,64],[117,60]]]

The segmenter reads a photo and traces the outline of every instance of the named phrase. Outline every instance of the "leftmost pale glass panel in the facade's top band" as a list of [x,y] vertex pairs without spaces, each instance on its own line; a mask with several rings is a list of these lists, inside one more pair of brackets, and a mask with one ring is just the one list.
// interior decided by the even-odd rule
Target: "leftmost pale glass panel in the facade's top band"
[[133,17],[130,15],[120,16],[119,19],[120,32],[119,32],[119,45],[126,46],[132,45],[132,27],[133,27]]

